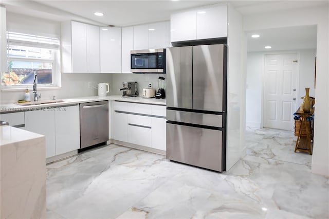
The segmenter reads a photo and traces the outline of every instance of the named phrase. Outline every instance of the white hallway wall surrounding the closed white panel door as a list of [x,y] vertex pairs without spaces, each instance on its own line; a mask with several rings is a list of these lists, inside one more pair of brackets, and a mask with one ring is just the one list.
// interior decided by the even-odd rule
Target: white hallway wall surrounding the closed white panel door
[[[264,57],[265,54],[297,53],[299,55],[299,82],[297,82],[297,108],[305,96],[305,87],[309,87],[309,96],[315,96],[314,68],[315,49],[273,51],[273,52],[248,52],[247,54],[247,102],[246,126],[263,127],[263,86],[264,86]],[[296,108],[296,109],[297,109]],[[296,110],[293,109],[294,111]],[[293,116],[293,115],[291,115]]]

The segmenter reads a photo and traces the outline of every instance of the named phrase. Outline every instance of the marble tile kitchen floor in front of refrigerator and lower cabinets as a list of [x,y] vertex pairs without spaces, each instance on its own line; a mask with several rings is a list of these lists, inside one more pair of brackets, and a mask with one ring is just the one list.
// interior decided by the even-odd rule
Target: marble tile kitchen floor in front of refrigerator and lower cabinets
[[47,166],[47,218],[328,218],[329,179],[245,156],[224,173],[110,144]]

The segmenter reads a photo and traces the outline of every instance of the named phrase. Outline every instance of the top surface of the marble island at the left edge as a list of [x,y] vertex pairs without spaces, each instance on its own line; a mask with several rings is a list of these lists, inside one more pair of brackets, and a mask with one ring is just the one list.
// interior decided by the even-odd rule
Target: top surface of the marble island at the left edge
[[9,125],[0,126],[1,147],[7,144],[31,140],[40,137],[43,137],[43,135],[39,135],[33,132],[28,132],[22,129],[17,129],[16,127],[12,127]]

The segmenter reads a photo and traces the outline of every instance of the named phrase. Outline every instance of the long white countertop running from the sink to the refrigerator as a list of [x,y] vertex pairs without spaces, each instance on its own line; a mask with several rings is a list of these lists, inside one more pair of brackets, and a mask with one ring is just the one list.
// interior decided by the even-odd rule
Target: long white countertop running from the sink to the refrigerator
[[[0,106],[0,113],[14,113],[20,111],[28,111],[29,109],[33,108],[43,108],[43,107],[58,107],[58,106],[67,106],[72,104],[79,104],[79,103],[87,103],[87,102],[95,102],[95,101],[102,101],[102,100],[117,100],[117,101],[124,101],[124,102],[134,102],[134,103],[147,103],[147,104],[157,104],[157,105],[166,105],[166,99],[156,99],[156,98],[142,98],[142,97],[122,97],[121,95],[111,95],[106,97],[78,97],[78,98],[68,98],[68,99],[58,99],[57,103],[44,103],[38,104],[38,102],[31,102],[35,105],[19,105],[17,103],[5,103],[1,104]],[[47,101],[41,100],[40,102]],[[51,101],[51,100],[48,100]]]

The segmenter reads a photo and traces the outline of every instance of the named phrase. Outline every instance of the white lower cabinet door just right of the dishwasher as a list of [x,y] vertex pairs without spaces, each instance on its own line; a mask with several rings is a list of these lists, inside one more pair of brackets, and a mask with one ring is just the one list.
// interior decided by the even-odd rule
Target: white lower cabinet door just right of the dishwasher
[[128,142],[128,117],[124,113],[113,113],[112,130],[113,139]]

